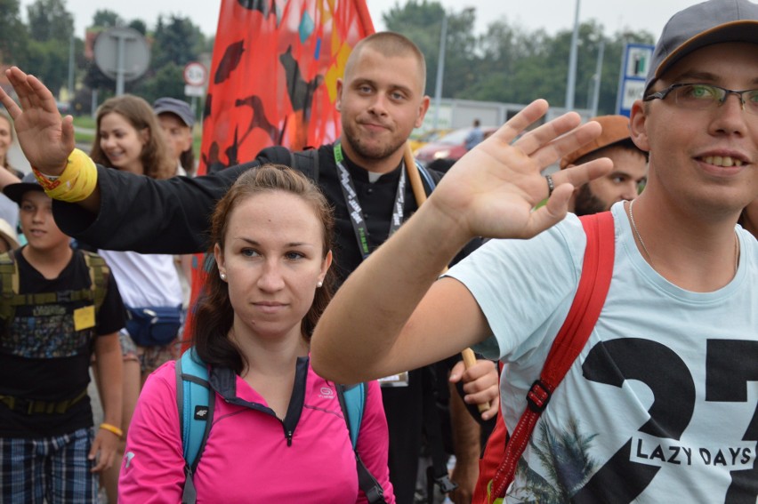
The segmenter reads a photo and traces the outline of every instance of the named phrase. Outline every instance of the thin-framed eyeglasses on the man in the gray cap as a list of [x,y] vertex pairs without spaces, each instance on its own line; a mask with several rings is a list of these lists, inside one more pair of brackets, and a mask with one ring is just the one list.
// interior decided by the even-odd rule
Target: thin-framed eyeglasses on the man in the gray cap
[[663,91],[646,96],[643,101],[663,100],[671,94],[673,101],[681,108],[705,110],[722,105],[730,94],[739,97],[742,109],[748,114],[758,116],[758,89],[735,91],[714,84],[672,84]]

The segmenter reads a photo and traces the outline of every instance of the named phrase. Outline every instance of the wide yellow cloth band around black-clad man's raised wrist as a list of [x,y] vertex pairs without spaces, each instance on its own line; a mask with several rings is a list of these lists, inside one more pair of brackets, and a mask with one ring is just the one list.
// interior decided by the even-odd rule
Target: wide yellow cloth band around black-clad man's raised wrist
[[49,180],[37,170],[35,175],[47,196],[69,203],[86,199],[97,188],[97,167],[90,156],[78,148],[69,154],[66,168],[57,180]]

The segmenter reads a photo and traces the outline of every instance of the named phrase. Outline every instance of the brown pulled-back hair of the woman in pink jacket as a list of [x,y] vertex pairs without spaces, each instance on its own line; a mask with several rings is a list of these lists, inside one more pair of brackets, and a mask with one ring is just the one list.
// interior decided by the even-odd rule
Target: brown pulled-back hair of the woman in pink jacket
[[[316,217],[321,222],[324,236],[322,247],[323,257],[332,249],[332,234],[334,231],[334,215],[327,199],[321,194],[313,182],[306,179],[301,172],[296,172],[281,164],[264,164],[244,172],[231,186],[229,192],[216,204],[211,219],[211,243],[218,244],[223,250],[231,212],[248,198],[272,192],[289,193],[300,196],[310,205]],[[254,225],[254,223],[250,223]],[[211,248],[209,255],[213,255]],[[245,369],[244,357],[237,345],[229,339],[229,332],[234,321],[234,309],[229,298],[228,284],[222,282],[219,276],[218,264],[215,261],[206,268],[207,277],[204,285],[204,295],[198,301],[194,316],[194,344],[198,356],[210,365],[220,365],[240,373]],[[332,289],[335,284],[335,274],[330,268],[324,279],[324,284],[316,290],[313,303],[308,313],[302,319],[302,336],[310,340],[310,335],[319,322],[319,317],[332,299]]]

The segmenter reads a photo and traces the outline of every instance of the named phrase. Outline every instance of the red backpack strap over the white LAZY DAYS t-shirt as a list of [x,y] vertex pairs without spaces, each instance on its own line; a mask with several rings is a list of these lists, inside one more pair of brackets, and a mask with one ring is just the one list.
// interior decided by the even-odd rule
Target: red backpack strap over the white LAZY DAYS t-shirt
[[608,295],[616,248],[613,215],[601,212],[583,216],[580,220],[585,228],[587,246],[577,294],[560,332],[552,342],[539,380],[528,391],[527,409],[505,446],[503,460],[492,484],[491,495],[495,497],[504,497],[537,420],[547,407],[552,392],[585,348]]

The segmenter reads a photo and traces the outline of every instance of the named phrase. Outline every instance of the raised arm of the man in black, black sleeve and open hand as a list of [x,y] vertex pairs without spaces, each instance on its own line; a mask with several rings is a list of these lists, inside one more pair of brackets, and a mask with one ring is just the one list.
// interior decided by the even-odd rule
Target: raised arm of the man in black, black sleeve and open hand
[[[39,172],[59,176],[74,149],[71,116],[61,119],[52,93],[35,76],[16,67],[5,75],[20,105],[2,89],[0,101],[13,118],[24,154]],[[75,204],[55,201],[55,220],[67,235],[102,249],[204,252],[215,203],[251,165],[186,180],[152,180],[99,166],[94,192]],[[0,188],[7,183],[11,180],[0,178]]]

